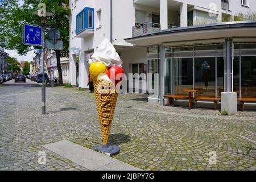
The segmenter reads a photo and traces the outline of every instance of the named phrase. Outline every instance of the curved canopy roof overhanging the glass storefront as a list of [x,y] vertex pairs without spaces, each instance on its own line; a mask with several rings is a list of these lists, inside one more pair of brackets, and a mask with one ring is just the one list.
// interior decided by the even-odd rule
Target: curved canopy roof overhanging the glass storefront
[[[190,44],[211,43],[211,40],[225,40],[225,38],[256,38],[256,21],[214,23],[205,26],[173,28],[125,39],[134,46],[152,46],[158,44]],[[254,39],[255,40],[255,39]]]

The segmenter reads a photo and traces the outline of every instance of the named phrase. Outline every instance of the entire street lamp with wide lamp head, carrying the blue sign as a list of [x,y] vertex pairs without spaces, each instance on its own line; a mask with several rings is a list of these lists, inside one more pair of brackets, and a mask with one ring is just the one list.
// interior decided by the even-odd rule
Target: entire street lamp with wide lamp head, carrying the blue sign
[[46,29],[47,17],[52,16],[53,13],[49,13],[46,11],[38,10],[33,12],[34,15],[38,15],[41,17],[41,23],[43,27],[43,55],[42,55],[42,67],[43,67],[43,81],[42,81],[42,114],[46,114],[46,85],[44,84],[44,50],[46,49],[46,43],[44,41],[44,31]]

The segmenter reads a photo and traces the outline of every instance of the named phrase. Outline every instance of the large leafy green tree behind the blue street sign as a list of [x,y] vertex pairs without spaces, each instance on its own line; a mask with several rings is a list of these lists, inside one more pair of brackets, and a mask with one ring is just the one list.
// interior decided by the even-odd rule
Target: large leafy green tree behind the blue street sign
[[[40,25],[40,17],[32,15],[38,9],[39,3],[46,4],[46,11],[54,15],[47,20],[47,27],[57,28],[60,31],[60,40],[64,42],[63,52],[68,52],[69,47],[69,15],[68,0],[24,0],[19,5],[19,0],[4,0],[0,6],[0,47],[16,49],[20,55],[25,55],[33,48],[22,43],[23,23]],[[47,36],[46,36],[47,38]],[[60,55],[63,52],[55,50],[59,83],[63,84]]]

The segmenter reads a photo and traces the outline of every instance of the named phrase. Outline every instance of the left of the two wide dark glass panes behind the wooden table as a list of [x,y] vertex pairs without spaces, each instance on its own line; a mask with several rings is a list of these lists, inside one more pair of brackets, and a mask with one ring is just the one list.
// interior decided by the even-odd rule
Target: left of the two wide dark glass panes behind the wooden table
[[184,94],[184,89],[193,89],[193,58],[174,59],[174,86],[175,95]]

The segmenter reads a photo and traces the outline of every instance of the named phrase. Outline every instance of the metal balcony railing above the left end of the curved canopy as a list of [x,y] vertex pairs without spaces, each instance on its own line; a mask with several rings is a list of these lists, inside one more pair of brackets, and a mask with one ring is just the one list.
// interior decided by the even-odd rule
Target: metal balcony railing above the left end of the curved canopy
[[161,27],[159,23],[144,22],[138,23],[133,26],[133,37],[141,36],[144,34],[150,34],[152,32],[160,31]]

